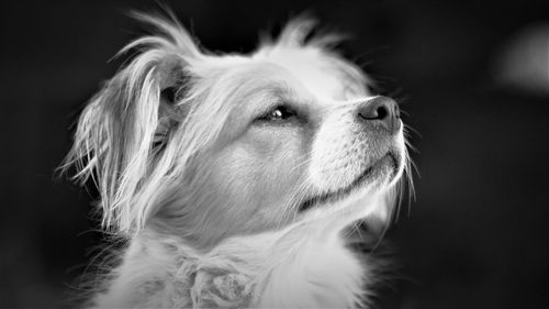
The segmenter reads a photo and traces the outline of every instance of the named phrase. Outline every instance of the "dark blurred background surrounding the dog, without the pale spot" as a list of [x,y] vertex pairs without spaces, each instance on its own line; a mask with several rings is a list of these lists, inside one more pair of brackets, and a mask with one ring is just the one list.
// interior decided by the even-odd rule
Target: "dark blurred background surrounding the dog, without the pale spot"
[[[386,241],[382,308],[549,308],[549,97],[497,82],[494,60],[545,1],[166,1],[202,44],[249,52],[309,11],[354,34],[346,56],[405,98],[421,177]],[[153,1],[0,4],[0,307],[59,307],[102,235],[91,197],[55,178],[70,125]],[[546,63],[547,65],[547,63]],[[405,208],[404,208],[405,210]],[[91,252],[91,253],[90,253]]]

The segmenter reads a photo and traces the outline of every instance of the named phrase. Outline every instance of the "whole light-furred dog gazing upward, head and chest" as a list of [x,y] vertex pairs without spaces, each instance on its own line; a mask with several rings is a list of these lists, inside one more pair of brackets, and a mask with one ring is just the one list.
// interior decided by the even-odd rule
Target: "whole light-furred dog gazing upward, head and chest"
[[[397,103],[296,18],[247,55],[172,14],[82,111],[65,169],[126,241],[93,308],[357,308],[376,265],[349,227],[388,221],[408,156]],[[404,176],[403,176],[404,175]]]

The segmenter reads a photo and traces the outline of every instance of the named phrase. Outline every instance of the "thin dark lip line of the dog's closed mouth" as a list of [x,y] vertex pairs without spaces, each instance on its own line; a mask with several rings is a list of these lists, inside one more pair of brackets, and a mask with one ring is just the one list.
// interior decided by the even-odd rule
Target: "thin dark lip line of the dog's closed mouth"
[[372,173],[372,170],[378,167],[378,165],[384,161],[385,158],[390,158],[392,165],[394,166],[394,173],[396,173],[397,167],[399,167],[399,159],[396,158],[396,154],[393,152],[388,152],[384,156],[382,156],[380,159],[378,159],[374,164],[368,166],[350,185],[347,187],[344,187],[341,189],[338,189],[336,191],[330,191],[326,192],[320,196],[315,196],[312,198],[306,199],[303,201],[300,207],[299,211],[305,211],[310,208],[313,208],[316,205],[323,205],[323,203],[328,203],[328,202],[335,202],[338,200],[341,200],[343,198],[347,197],[349,194],[351,194],[356,188],[360,187],[366,178]]

